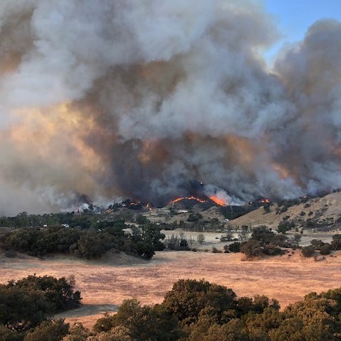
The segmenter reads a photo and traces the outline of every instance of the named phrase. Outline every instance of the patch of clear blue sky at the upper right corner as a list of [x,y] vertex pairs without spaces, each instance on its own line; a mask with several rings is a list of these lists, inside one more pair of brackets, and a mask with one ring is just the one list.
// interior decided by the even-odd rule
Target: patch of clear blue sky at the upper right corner
[[278,43],[266,53],[271,60],[285,43],[302,40],[308,27],[322,18],[341,21],[341,0],[264,0],[266,9],[275,17],[283,35]]

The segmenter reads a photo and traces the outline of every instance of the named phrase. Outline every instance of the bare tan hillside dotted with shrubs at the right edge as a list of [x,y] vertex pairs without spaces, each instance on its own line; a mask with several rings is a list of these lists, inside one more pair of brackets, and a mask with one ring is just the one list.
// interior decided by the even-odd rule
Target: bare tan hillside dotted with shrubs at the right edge
[[285,205],[271,205],[270,212],[263,207],[247,213],[242,217],[231,220],[233,225],[266,225],[276,229],[281,220],[289,220],[296,223],[296,227],[316,228],[317,230],[335,230],[341,227],[341,193],[332,193],[324,197],[315,197],[298,205],[288,207]]

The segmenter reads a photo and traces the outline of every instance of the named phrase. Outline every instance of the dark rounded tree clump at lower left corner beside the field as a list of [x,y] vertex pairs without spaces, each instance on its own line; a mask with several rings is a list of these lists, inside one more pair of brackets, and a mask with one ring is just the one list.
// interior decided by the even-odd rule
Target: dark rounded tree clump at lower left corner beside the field
[[28,276],[0,285],[0,340],[23,340],[55,313],[79,307],[82,298],[74,286],[73,278],[53,276]]

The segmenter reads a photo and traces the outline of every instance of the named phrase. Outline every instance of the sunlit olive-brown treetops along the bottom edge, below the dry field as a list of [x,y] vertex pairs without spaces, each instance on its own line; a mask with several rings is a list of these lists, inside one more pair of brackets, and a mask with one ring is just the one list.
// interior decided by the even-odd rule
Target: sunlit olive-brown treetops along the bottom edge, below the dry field
[[[0,330],[4,333],[4,328]],[[19,338],[13,338],[18,337]],[[266,296],[237,297],[205,280],[174,283],[163,303],[124,301],[93,329],[63,320],[45,321],[1,340],[40,341],[334,341],[341,337],[341,288],[309,293],[280,311]],[[11,338],[12,337],[12,338]]]

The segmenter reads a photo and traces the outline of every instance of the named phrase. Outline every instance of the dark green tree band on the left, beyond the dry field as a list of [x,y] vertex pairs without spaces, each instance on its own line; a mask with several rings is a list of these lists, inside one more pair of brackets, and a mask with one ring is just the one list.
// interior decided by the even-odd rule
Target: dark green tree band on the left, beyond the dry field
[[101,257],[109,249],[151,259],[156,250],[162,250],[161,239],[165,236],[155,224],[131,227],[124,220],[97,222],[94,227],[22,227],[14,229],[1,238],[2,247],[11,251],[25,252],[31,256],[51,253],[74,254],[86,259]]

